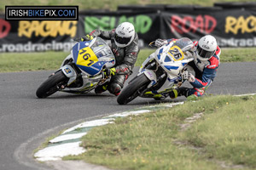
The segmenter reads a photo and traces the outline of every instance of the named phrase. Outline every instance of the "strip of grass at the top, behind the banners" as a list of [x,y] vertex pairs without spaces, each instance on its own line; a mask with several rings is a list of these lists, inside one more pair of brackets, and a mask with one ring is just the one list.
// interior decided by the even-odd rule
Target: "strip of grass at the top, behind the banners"
[[172,5],[201,5],[201,6],[212,6],[213,3],[218,2],[247,2],[247,0],[9,0],[0,1],[0,12],[4,12],[5,5],[79,5],[79,10],[88,9],[110,9],[116,10],[119,5],[137,5],[137,4],[172,4]]

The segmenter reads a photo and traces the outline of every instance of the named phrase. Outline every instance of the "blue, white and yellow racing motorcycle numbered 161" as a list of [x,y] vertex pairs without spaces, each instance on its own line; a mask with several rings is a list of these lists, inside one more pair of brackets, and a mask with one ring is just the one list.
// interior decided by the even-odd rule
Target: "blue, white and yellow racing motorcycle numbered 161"
[[41,84],[36,94],[38,98],[46,98],[57,91],[88,93],[96,86],[110,81],[111,77],[105,76],[102,70],[113,65],[115,58],[112,50],[101,37],[77,42],[61,68]]

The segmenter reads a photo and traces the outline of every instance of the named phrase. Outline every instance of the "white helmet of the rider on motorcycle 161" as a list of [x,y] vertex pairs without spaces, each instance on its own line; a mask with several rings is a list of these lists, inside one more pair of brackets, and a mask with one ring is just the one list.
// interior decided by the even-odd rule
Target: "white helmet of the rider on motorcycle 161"
[[113,39],[119,48],[125,48],[133,41],[134,37],[134,26],[130,22],[123,22],[115,29]]

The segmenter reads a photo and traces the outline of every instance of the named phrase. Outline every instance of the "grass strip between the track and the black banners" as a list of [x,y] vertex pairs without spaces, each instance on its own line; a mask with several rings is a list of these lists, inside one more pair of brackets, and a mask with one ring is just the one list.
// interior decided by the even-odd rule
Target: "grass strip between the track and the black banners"
[[[138,54],[136,65],[142,65],[144,59],[155,49],[144,48]],[[256,61],[254,48],[224,48],[221,62]],[[56,70],[69,53],[0,53],[0,72]]]

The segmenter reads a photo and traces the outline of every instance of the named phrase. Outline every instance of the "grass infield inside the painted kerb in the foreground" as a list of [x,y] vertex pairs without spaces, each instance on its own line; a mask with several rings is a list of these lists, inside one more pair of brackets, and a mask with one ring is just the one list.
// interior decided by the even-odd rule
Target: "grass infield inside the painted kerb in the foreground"
[[[64,160],[113,169],[255,169],[255,109],[252,96],[215,96],[119,118],[93,128],[82,139],[87,151]],[[195,113],[203,116],[181,131],[180,124]]]

